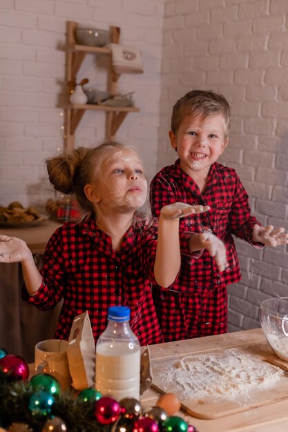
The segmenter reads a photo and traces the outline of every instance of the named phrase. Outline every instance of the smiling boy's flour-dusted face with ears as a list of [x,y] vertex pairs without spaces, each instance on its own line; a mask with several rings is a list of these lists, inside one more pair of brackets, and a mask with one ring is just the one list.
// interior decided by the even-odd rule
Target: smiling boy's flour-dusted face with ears
[[171,146],[177,150],[180,166],[188,175],[207,177],[210,166],[217,161],[228,144],[224,139],[224,121],[221,114],[188,115],[174,134],[169,132]]

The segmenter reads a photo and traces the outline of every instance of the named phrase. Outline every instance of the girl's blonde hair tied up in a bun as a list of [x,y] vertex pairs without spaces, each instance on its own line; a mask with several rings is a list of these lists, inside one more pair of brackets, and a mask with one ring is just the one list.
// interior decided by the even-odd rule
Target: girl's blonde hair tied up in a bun
[[[139,157],[133,146],[117,141],[105,141],[95,148],[79,147],[70,153],[62,153],[46,160],[50,183],[61,193],[75,195],[81,210],[81,219],[93,214],[97,217],[97,203],[90,202],[86,197],[86,184],[97,185],[103,173],[104,162],[115,151],[123,149],[131,150]],[[143,219],[149,217],[150,206],[140,215]]]

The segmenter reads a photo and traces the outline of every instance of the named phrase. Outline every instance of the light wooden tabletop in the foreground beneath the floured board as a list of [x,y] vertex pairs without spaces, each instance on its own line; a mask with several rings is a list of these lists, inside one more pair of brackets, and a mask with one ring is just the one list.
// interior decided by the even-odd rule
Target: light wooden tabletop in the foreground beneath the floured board
[[[239,347],[244,344],[253,344],[255,352],[259,346],[259,353],[264,357],[274,357],[273,351],[266,342],[261,328],[248,331],[227,333],[200,337],[193,340],[169,342],[150,346],[151,362],[164,359],[175,354],[198,353],[211,351],[215,348]],[[278,357],[275,356],[277,359]],[[148,389],[142,396],[142,406],[154,406],[159,393]],[[199,432],[287,432],[288,431],[288,397],[280,402],[242,411],[233,415],[213,420],[202,420],[186,415],[180,411],[180,415],[187,423],[193,424]]]

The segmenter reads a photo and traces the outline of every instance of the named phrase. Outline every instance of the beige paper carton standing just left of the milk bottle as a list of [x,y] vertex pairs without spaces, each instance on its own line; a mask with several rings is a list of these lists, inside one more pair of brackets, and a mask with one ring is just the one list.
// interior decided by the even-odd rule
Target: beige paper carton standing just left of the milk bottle
[[74,318],[67,347],[72,386],[88,389],[95,382],[95,342],[88,312]]

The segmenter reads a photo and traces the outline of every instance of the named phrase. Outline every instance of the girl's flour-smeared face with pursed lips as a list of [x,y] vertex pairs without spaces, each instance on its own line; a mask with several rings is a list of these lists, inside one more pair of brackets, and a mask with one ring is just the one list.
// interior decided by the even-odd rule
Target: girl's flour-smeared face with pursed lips
[[103,213],[135,211],[143,206],[147,196],[147,181],[140,159],[133,150],[115,149],[102,165],[97,184],[86,186],[90,201],[96,202]]

